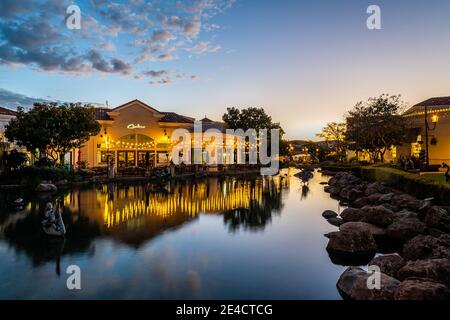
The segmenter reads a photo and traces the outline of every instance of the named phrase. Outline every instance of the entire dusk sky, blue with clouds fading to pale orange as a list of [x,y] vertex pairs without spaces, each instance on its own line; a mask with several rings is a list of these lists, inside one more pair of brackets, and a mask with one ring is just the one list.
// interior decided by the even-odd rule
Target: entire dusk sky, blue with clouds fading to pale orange
[[[80,29],[66,25],[72,4]],[[0,106],[12,109],[139,99],[220,120],[263,107],[287,138],[317,139],[369,97],[449,96],[449,57],[442,0],[0,1]]]

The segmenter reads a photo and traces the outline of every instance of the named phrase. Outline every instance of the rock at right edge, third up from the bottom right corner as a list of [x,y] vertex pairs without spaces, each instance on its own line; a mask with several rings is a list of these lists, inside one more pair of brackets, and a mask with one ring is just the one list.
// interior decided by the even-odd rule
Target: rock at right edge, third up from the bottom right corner
[[403,246],[403,257],[406,260],[428,258],[450,258],[450,241],[443,237],[418,235]]

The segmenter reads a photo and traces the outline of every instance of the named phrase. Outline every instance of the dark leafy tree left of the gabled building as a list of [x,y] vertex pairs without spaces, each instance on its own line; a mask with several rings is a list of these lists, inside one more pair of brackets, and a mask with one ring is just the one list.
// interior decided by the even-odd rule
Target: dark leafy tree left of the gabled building
[[56,161],[81,147],[100,128],[89,105],[36,103],[29,112],[18,109],[17,117],[6,126],[5,136],[31,153],[38,150],[41,158]]

